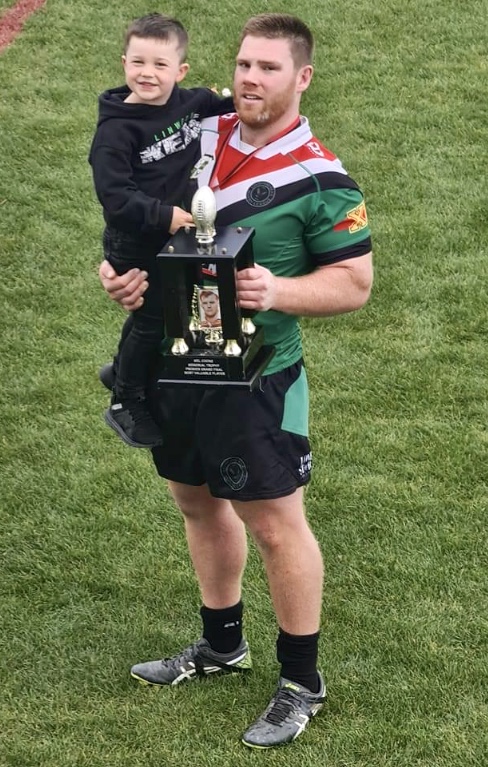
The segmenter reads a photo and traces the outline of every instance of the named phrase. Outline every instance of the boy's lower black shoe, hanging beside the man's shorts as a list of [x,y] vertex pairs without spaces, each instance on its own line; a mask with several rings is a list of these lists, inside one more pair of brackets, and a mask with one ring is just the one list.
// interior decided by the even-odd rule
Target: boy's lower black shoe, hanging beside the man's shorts
[[113,399],[105,420],[131,447],[158,447],[163,437],[143,399]]

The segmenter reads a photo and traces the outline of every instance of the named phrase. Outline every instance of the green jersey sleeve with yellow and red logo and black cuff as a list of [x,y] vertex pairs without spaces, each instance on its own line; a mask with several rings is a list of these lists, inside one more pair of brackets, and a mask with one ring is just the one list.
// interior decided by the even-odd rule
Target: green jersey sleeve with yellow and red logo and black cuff
[[370,252],[371,232],[364,197],[348,176],[321,189],[319,204],[305,231],[305,244],[316,266]]

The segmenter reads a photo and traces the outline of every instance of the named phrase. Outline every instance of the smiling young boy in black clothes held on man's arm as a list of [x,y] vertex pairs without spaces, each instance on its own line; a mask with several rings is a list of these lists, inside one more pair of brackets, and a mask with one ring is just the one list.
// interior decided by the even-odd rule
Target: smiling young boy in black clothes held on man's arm
[[188,72],[186,30],[151,13],[125,36],[126,85],[99,98],[90,150],[95,190],[103,206],[104,256],[118,274],[148,273],[144,305],[124,326],[112,403],[105,420],[129,445],[155,447],[162,435],[145,402],[151,357],[163,336],[156,255],[171,234],[192,224],[188,180],[199,154],[200,120],[233,111],[231,98],[208,88],[178,87]]

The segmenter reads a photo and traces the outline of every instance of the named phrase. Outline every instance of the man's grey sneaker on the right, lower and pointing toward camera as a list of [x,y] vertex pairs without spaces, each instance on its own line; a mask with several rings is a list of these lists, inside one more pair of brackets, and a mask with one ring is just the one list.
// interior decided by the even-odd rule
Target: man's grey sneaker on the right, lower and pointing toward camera
[[251,748],[272,748],[298,738],[324,705],[327,692],[319,677],[320,690],[316,693],[281,677],[269,706],[246,730],[242,742]]

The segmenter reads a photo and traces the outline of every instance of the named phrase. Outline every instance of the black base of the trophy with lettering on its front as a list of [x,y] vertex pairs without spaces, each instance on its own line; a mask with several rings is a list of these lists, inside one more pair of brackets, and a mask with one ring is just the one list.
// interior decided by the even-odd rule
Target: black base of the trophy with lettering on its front
[[226,357],[211,349],[165,354],[157,384],[253,389],[274,353],[274,347],[260,346],[255,353],[248,349],[240,357]]

